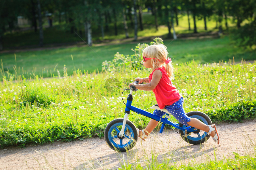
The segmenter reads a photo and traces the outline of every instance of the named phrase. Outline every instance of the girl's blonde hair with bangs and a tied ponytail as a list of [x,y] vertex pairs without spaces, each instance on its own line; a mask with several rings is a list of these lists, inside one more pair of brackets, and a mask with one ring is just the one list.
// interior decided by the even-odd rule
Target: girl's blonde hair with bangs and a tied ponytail
[[160,67],[163,65],[166,69],[167,76],[171,80],[174,79],[174,74],[173,74],[174,67],[172,63],[171,62],[169,62],[168,64],[165,63],[168,56],[167,47],[165,45],[163,44],[150,45],[143,50],[142,55],[145,56],[146,58],[156,58],[154,60],[151,60],[153,68],[155,66]]

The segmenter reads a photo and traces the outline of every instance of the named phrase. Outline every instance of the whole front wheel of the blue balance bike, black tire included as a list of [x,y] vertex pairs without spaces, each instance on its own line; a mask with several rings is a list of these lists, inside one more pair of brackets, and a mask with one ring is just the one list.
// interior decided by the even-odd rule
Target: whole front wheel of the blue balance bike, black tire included
[[132,149],[137,140],[138,132],[136,126],[129,120],[126,121],[125,131],[122,138],[118,137],[121,131],[124,119],[115,119],[107,124],[104,131],[104,138],[107,145],[118,152],[126,152]]

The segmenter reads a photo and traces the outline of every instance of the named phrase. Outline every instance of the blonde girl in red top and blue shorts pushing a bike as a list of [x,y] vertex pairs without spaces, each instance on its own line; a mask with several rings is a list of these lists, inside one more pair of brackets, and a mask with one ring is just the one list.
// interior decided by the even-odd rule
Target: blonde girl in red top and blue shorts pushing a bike
[[[164,45],[150,45],[143,50],[143,66],[151,68],[152,73],[146,78],[136,78],[138,85],[130,83],[139,90],[153,90],[160,109],[166,108],[180,123],[208,132],[213,140],[219,144],[219,136],[215,125],[206,125],[196,118],[188,117],[183,109],[183,97],[171,80],[174,79],[174,67],[171,58],[167,58],[168,52]],[[141,84],[142,82],[146,84]],[[154,110],[154,115],[162,117],[165,112]],[[158,121],[151,119],[144,130],[138,129],[138,135],[145,140],[158,125]]]

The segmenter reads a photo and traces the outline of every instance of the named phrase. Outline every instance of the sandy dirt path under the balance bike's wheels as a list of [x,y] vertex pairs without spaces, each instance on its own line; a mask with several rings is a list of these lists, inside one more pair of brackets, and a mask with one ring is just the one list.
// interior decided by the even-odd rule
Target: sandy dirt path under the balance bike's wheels
[[[120,163],[150,160],[152,151],[161,161],[205,162],[232,157],[232,152],[240,155],[254,153],[256,147],[256,120],[244,123],[217,125],[220,144],[212,139],[201,145],[191,145],[174,131],[154,133],[147,141],[138,143],[128,152],[118,153],[110,149],[102,138],[85,139],[69,143],[29,146],[25,149],[10,147],[0,150],[0,169],[117,169]],[[161,149],[164,147],[164,149]]]

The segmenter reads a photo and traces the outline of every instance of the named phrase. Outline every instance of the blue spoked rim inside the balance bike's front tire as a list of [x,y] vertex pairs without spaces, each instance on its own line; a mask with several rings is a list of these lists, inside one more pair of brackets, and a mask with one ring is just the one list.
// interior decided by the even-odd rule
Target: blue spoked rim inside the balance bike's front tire
[[[107,134],[108,139],[113,144],[113,146],[115,148],[120,148],[120,149],[129,147],[132,144],[133,139],[134,139],[134,132],[133,132],[131,126],[126,124],[125,129],[124,129],[124,138],[119,139],[118,140],[119,142],[114,141],[114,139],[118,139],[117,134],[120,132],[122,125],[123,125],[123,123],[121,123],[121,122],[120,123],[115,123],[114,125],[112,125],[110,127],[110,129],[108,131],[108,134]],[[120,128],[118,128],[118,126],[120,126]],[[130,136],[127,135],[127,129],[130,131],[130,134],[129,134]],[[115,130],[115,132],[114,132],[114,130]],[[114,136],[113,136],[113,133],[114,133]],[[129,141],[125,142],[124,139],[129,139]]]

